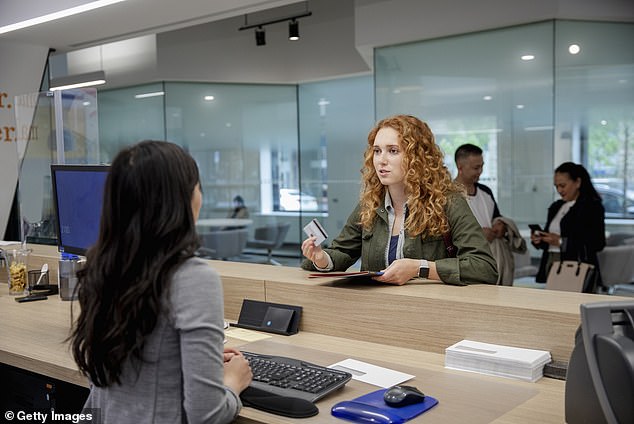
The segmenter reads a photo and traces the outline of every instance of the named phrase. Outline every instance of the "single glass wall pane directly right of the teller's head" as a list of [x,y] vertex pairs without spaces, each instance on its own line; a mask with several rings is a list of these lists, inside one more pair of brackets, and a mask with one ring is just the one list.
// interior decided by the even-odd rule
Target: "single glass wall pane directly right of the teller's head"
[[[240,195],[252,217],[283,209],[299,188],[295,86],[166,83],[167,139],[197,160],[201,218],[225,217]],[[264,222],[258,222],[257,225]]]

